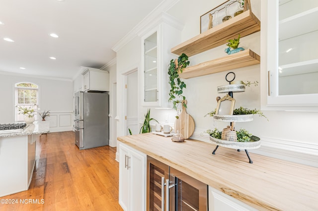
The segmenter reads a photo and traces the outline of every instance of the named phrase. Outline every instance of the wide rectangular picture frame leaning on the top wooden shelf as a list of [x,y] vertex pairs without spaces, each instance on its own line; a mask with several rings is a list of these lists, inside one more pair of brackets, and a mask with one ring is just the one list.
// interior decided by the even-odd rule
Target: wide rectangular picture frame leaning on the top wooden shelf
[[[242,5],[242,2],[244,6]],[[200,34],[223,23],[222,19],[229,20],[239,10],[246,11],[249,0],[227,0],[200,16]],[[250,8],[250,6],[249,6]],[[240,14],[240,13],[239,13]]]

